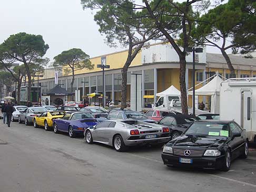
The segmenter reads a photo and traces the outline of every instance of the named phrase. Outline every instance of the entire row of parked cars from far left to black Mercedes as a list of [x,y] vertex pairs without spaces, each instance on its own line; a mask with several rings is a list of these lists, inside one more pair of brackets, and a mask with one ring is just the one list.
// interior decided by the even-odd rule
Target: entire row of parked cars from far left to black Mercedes
[[248,156],[246,130],[234,121],[208,120],[218,118],[218,114],[200,115],[200,118],[166,111],[164,117],[155,121],[129,109],[107,113],[94,107],[71,110],[67,107],[74,106],[63,106],[54,111],[29,107],[23,112],[19,107],[16,106],[21,111],[19,123],[33,122],[35,128],[53,129],[55,134],[66,132],[70,137],[83,134],[88,144],[102,143],[120,152],[130,146],[164,145],[161,156],[167,166],[227,171],[232,160]]

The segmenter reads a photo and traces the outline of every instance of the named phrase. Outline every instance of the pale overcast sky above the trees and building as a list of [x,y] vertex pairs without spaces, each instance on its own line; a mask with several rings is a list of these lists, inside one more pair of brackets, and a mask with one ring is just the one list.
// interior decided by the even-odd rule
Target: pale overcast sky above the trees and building
[[[0,13],[0,43],[19,32],[41,34],[51,60],[70,48],[81,48],[91,57],[124,49],[105,44],[92,11],[84,11],[80,0],[0,0]],[[208,52],[218,50],[209,47]]]

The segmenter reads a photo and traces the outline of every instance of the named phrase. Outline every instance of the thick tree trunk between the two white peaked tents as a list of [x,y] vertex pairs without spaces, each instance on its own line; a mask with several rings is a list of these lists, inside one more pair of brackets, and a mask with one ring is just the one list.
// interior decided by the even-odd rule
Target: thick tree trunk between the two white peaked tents
[[180,87],[182,114],[188,114],[188,100],[186,97],[186,57],[180,56]]

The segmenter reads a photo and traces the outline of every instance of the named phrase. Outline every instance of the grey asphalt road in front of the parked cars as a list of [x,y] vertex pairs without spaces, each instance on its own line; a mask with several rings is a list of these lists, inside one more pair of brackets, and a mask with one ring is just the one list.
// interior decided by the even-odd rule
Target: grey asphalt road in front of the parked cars
[[0,192],[256,191],[256,148],[231,170],[168,168],[161,149],[118,153],[83,138],[0,122]]

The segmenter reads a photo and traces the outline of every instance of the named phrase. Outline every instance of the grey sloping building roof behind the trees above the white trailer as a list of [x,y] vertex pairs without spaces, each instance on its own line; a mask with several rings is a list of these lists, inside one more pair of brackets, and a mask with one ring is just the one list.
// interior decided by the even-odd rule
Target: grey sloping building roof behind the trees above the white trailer
[[[237,65],[254,65],[256,58],[245,58],[241,55],[229,55],[232,64]],[[222,54],[206,53],[206,63],[223,63],[227,64]]]

